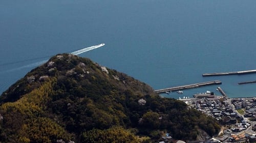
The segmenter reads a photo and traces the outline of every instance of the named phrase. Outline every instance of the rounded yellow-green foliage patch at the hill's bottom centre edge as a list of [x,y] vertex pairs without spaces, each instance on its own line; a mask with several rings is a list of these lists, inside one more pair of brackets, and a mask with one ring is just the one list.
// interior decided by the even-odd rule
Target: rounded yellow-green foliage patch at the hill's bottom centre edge
[[107,130],[93,129],[84,132],[82,142],[111,143],[111,142],[140,142],[131,132],[121,128],[113,127]]

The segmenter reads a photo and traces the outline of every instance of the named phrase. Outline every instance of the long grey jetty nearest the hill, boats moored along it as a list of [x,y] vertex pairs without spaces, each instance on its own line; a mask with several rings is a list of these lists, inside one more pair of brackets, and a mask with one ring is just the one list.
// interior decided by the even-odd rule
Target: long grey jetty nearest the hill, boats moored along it
[[222,82],[220,80],[206,81],[206,82],[200,82],[200,83],[195,83],[195,84],[182,85],[182,86],[179,86],[179,87],[155,90],[155,92],[156,93],[165,93],[165,92],[170,92],[170,91],[173,92],[173,91],[179,91],[179,90],[191,89],[191,88],[199,88],[199,87],[202,87],[202,86],[221,84],[221,83]]

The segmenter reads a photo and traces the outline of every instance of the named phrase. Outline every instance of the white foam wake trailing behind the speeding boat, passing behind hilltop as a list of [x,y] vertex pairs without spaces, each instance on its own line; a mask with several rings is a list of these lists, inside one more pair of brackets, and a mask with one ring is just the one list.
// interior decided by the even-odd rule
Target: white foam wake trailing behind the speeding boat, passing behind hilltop
[[[83,48],[83,49],[80,49],[80,50],[71,52],[71,54],[78,55],[78,54],[81,54],[81,53],[83,53],[83,52],[87,52],[87,51],[90,51],[90,50],[93,50],[93,49],[102,47],[102,46],[104,46],[104,45],[105,45],[105,44],[102,43],[102,44],[99,44],[99,45],[95,45],[95,46]],[[1,71],[0,73],[6,73],[6,72],[16,71],[16,70],[20,70],[20,69],[24,69],[24,68],[31,68],[31,67],[40,66],[40,65],[46,63],[47,61],[48,61],[48,60],[36,62],[36,63],[30,64],[30,65],[26,65],[26,66],[22,66],[22,67],[19,67],[19,68],[15,68],[15,69],[11,69],[11,70],[6,70],[6,71]]]

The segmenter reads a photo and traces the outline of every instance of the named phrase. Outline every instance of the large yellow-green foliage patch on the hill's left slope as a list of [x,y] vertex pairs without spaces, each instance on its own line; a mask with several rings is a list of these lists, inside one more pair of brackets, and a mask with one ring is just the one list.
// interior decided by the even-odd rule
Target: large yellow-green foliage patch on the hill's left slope
[[[42,83],[32,92],[24,95],[16,102],[7,102],[0,109],[8,120],[8,128],[16,142],[54,142],[56,139],[66,139],[66,131],[49,118],[44,118],[47,102],[53,93],[52,83],[55,78]],[[8,131],[6,131],[8,132]]]

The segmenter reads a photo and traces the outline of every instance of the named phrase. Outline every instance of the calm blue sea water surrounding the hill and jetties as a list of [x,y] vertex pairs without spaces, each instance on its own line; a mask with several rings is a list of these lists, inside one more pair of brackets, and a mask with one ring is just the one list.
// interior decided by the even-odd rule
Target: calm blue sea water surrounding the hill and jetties
[[105,43],[80,56],[154,89],[219,79],[229,97],[255,97],[256,84],[238,82],[256,74],[202,77],[256,69],[255,12],[236,0],[0,1],[0,93],[52,55]]

